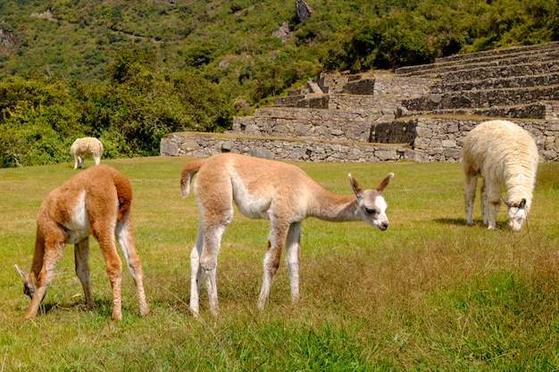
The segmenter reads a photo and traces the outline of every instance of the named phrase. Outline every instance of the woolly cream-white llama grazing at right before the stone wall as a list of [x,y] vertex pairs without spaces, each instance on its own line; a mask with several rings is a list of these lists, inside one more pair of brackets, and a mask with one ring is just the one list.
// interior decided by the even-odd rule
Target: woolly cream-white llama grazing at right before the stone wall
[[495,228],[501,203],[501,186],[506,187],[508,225],[520,230],[530,211],[538,170],[538,147],[530,134],[505,120],[481,123],[466,136],[463,145],[464,207],[466,221],[473,223],[472,209],[478,177],[481,183],[483,223]]

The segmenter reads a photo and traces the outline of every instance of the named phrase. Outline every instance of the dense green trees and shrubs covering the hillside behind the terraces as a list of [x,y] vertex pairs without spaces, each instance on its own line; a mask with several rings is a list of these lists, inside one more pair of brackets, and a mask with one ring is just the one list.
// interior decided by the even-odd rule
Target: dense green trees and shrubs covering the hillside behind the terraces
[[559,39],[546,0],[307,1],[304,21],[295,1],[0,3],[0,167],[68,161],[77,136],[155,154],[163,134],[227,129],[322,70]]

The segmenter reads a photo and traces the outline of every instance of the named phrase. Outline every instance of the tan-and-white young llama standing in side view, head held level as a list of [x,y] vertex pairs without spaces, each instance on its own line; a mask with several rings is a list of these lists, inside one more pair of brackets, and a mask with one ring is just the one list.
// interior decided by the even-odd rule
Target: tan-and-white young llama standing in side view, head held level
[[281,161],[221,153],[189,161],[182,169],[180,186],[187,196],[197,174],[194,190],[200,213],[196,244],[190,255],[190,309],[197,316],[200,278],[204,271],[210,311],[217,315],[215,282],[221,235],[233,218],[233,202],[246,217],[270,219],[268,251],[263,260],[263,284],[258,308],[268,299],[271,280],[286,247],[292,302],[299,299],[301,222],[307,216],[329,221],[363,220],[384,231],[388,228],[387,203],[382,191],[394,177],[389,173],[374,190],[363,190],[349,175],[354,194],[330,193],[302,169]]

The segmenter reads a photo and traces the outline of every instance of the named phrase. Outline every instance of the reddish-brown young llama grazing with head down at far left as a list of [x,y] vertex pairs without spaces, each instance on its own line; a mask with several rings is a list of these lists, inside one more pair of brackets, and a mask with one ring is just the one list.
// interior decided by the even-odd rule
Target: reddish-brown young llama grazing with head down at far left
[[143,274],[134,247],[131,219],[132,187],[117,170],[98,166],[79,172],[46,196],[38,211],[35,254],[31,271],[15,268],[23,278],[23,292],[31,298],[25,318],[37,315],[65,244],[74,244],[76,274],[89,307],[94,306],[89,285],[89,236],[95,236],[113,290],[113,320],[121,319],[122,263],[114,238],[119,241],[136,284],[139,310],[149,312]]

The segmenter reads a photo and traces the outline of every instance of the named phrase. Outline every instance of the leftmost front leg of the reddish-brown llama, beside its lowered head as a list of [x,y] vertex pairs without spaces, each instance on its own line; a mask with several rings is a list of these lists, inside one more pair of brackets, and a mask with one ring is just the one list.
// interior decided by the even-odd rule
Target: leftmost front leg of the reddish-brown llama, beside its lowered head
[[25,314],[26,319],[33,318],[37,315],[38,308],[45,298],[46,289],[48,289],[48,286],[53,280],[54,269],[56,268],[58,261],[63,256],[63,249],[64,241],[62,237],[52,246],[45,247],[45,259],[43,260],[43,268],[38,274],[37,287],[35,288],[35,293],[33,293],[33,298],[31,299],[29,310],[27,310],[27,313]]

